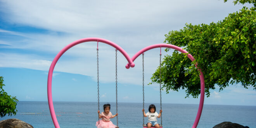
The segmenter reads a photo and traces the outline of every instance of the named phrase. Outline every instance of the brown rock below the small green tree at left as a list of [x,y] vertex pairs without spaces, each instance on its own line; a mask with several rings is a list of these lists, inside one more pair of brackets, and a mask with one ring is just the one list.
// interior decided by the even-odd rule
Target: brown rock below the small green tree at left
[[5,119],[0,121],[0,128],[34,128],[34,127],[19,119]]

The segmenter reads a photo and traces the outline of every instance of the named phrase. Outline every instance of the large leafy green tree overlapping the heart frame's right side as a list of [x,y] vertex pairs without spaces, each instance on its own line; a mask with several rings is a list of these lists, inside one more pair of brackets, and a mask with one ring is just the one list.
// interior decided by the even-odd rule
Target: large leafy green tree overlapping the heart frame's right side
[[[221,91],[228,84],[242,83],[244,88],[253,86],[256,89],[256,4],[255,0],[234,0],[234,4],[237,2],[253,3],[254,7],[243,7],[216,23],[186,24],[183,29],[165,35],[164,43],[182,47],[195,58],[191,62],[186,54],[176,50],[164,57],[161,83],[166,93],[186,89],[186,97],[198,97],[201,88],[195,62],[204,73],[207,97],[215,86]],[[159,67],[151,80],[152,83],[160,82]]]

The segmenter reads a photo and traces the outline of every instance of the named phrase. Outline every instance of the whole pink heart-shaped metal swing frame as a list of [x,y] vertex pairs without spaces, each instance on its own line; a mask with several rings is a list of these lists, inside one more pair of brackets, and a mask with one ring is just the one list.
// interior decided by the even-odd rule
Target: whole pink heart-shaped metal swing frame
[[[179,52],[182,53],[188,53],[186,50],[183,50],[182,48],[175,46],[175,45],[170,45],[170,44],[165,44],[165,43],[160,43],[160,44],[155,44],[155,45],[150,45],[148,47],[143,48],[142,50],[138,51],[135,55],[133,55],[132,58],[130,58],[130,56],[125,52],[125,50],[123,50],[123,48],[121,48],[119,45],[117,45],[116,43],[113,43],[109,40],[103,39],[103,38],[83,38],[80,40],[76,40],[75,42],[70,43],[69,45],[67,45],[66,47],[64,47],[54,58],[54,60],[52,61],[52,64],[50,66],[49,72],[48,72],[48,81],[47,81],[47,95],[48,95],[48,105],[49,105],[49,109],[50,109],[50,114],[52,116],[52,121],[54,123],[55,128],[60,128],[59,123],[57,121],[56,115],[55,115],[55,111],[54,111],[54,106],[53,106],[53,102],[52,102],[52,73],[54,71],[54,67],[57,63],[57,61],[59,60],[59,58],[61,57],[61,55],[63,55],[69,48],[78,45],[80,43],[83,42],[102,42],[102,43],[106,43],[108,45],[111,45],[112,47],[116,48],[117,50],[119,50],[127,59],[128,64],[125,66],[127,69],[129,69],[130,67],[134,67],[135,64],[133,63],[133,61],[140,55],[143,54],[144,52],[146,52],[147,50],[153,49],[153,48],[159,48],[159,47],[166,47],[166,48],[172,48],[175,50],[178,50]],[[189,57],[189,59],[191,61],[194,61],[194,57],[190,54],[187,55],[187,57]],[[200,81],[201,81],[201,95],[200,95],[200,102],[199,102],[199,108],[197,111],[197,116],[195,118],[194,124],[192,126],[192,128],[196,128],[197,124],[199,122],[199,119],[201,117],[201,113],[202,113],[202,108],[204,105],[204,75],[200,70]]]

